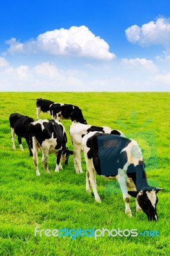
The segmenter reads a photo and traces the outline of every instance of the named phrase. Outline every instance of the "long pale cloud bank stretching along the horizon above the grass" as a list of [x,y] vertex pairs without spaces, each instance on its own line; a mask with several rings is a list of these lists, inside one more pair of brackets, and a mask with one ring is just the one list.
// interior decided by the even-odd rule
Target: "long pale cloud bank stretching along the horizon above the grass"
[[[124,59],[111,63],[110,70],[95,66],[82,70],[59,69],[43,62],[34,67],[20,65],[0,70],[1,91],[15,92],[142,92],[169,91],[169,72],[146,72],[148,60]],[[133,68],[129,68],[133,67]]]

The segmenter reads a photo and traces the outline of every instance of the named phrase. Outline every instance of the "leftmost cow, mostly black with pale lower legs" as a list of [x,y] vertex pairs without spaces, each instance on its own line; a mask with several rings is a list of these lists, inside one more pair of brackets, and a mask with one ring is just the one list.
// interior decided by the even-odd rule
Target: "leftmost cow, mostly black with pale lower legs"
[[29,156],[33,156],[30,142],[29,142],[29,133],[28,133],[28,125],[31,122],[34,122],[34,119],[29,116],[20,115],[19,113],[13,113],[9,117],[10,120],[10,128],[12,132],[12,144],[13,150],[15,150],[15,134],[18,136],[18,141],[20,145],[20,150],[24,150],[22,147],[22,138],[26,139],[28,148],[29,148]]

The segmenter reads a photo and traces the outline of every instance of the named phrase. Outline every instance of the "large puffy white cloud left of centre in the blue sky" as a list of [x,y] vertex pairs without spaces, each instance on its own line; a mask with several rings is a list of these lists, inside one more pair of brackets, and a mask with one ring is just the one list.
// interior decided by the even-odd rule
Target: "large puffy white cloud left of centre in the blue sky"
[[115,54],[109,52],[109,45],[100,36],[95,36],[86,26],[72,26],[70,29],[54,29],[37,36],[35,40],[21,44],[16,38],[6,41],[11,54],[46,52],[54,55],[74,55],[99,60],[112,60]]

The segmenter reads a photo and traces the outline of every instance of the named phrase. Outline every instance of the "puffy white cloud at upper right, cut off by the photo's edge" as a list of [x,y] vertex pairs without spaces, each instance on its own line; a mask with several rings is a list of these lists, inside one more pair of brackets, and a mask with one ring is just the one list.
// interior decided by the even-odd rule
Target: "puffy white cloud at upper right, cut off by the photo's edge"
[[155,22],[150,21],[143,24],[141,28],[137,25],[125,30],[127,40],[132,44],[141,46],[163,45],[170,46],[170,19],[159,18]]

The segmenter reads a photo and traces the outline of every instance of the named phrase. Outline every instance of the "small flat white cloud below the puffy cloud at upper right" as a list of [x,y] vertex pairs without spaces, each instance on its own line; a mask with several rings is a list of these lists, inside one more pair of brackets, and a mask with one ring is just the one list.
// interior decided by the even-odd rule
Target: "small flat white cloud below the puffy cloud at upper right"
[[156,72],[157,67],[151,60],[146,60],[145,58],[134,58],[134,59],[122,59],[123,64],[128,67],[139,67],[148,70],[149,72]]

